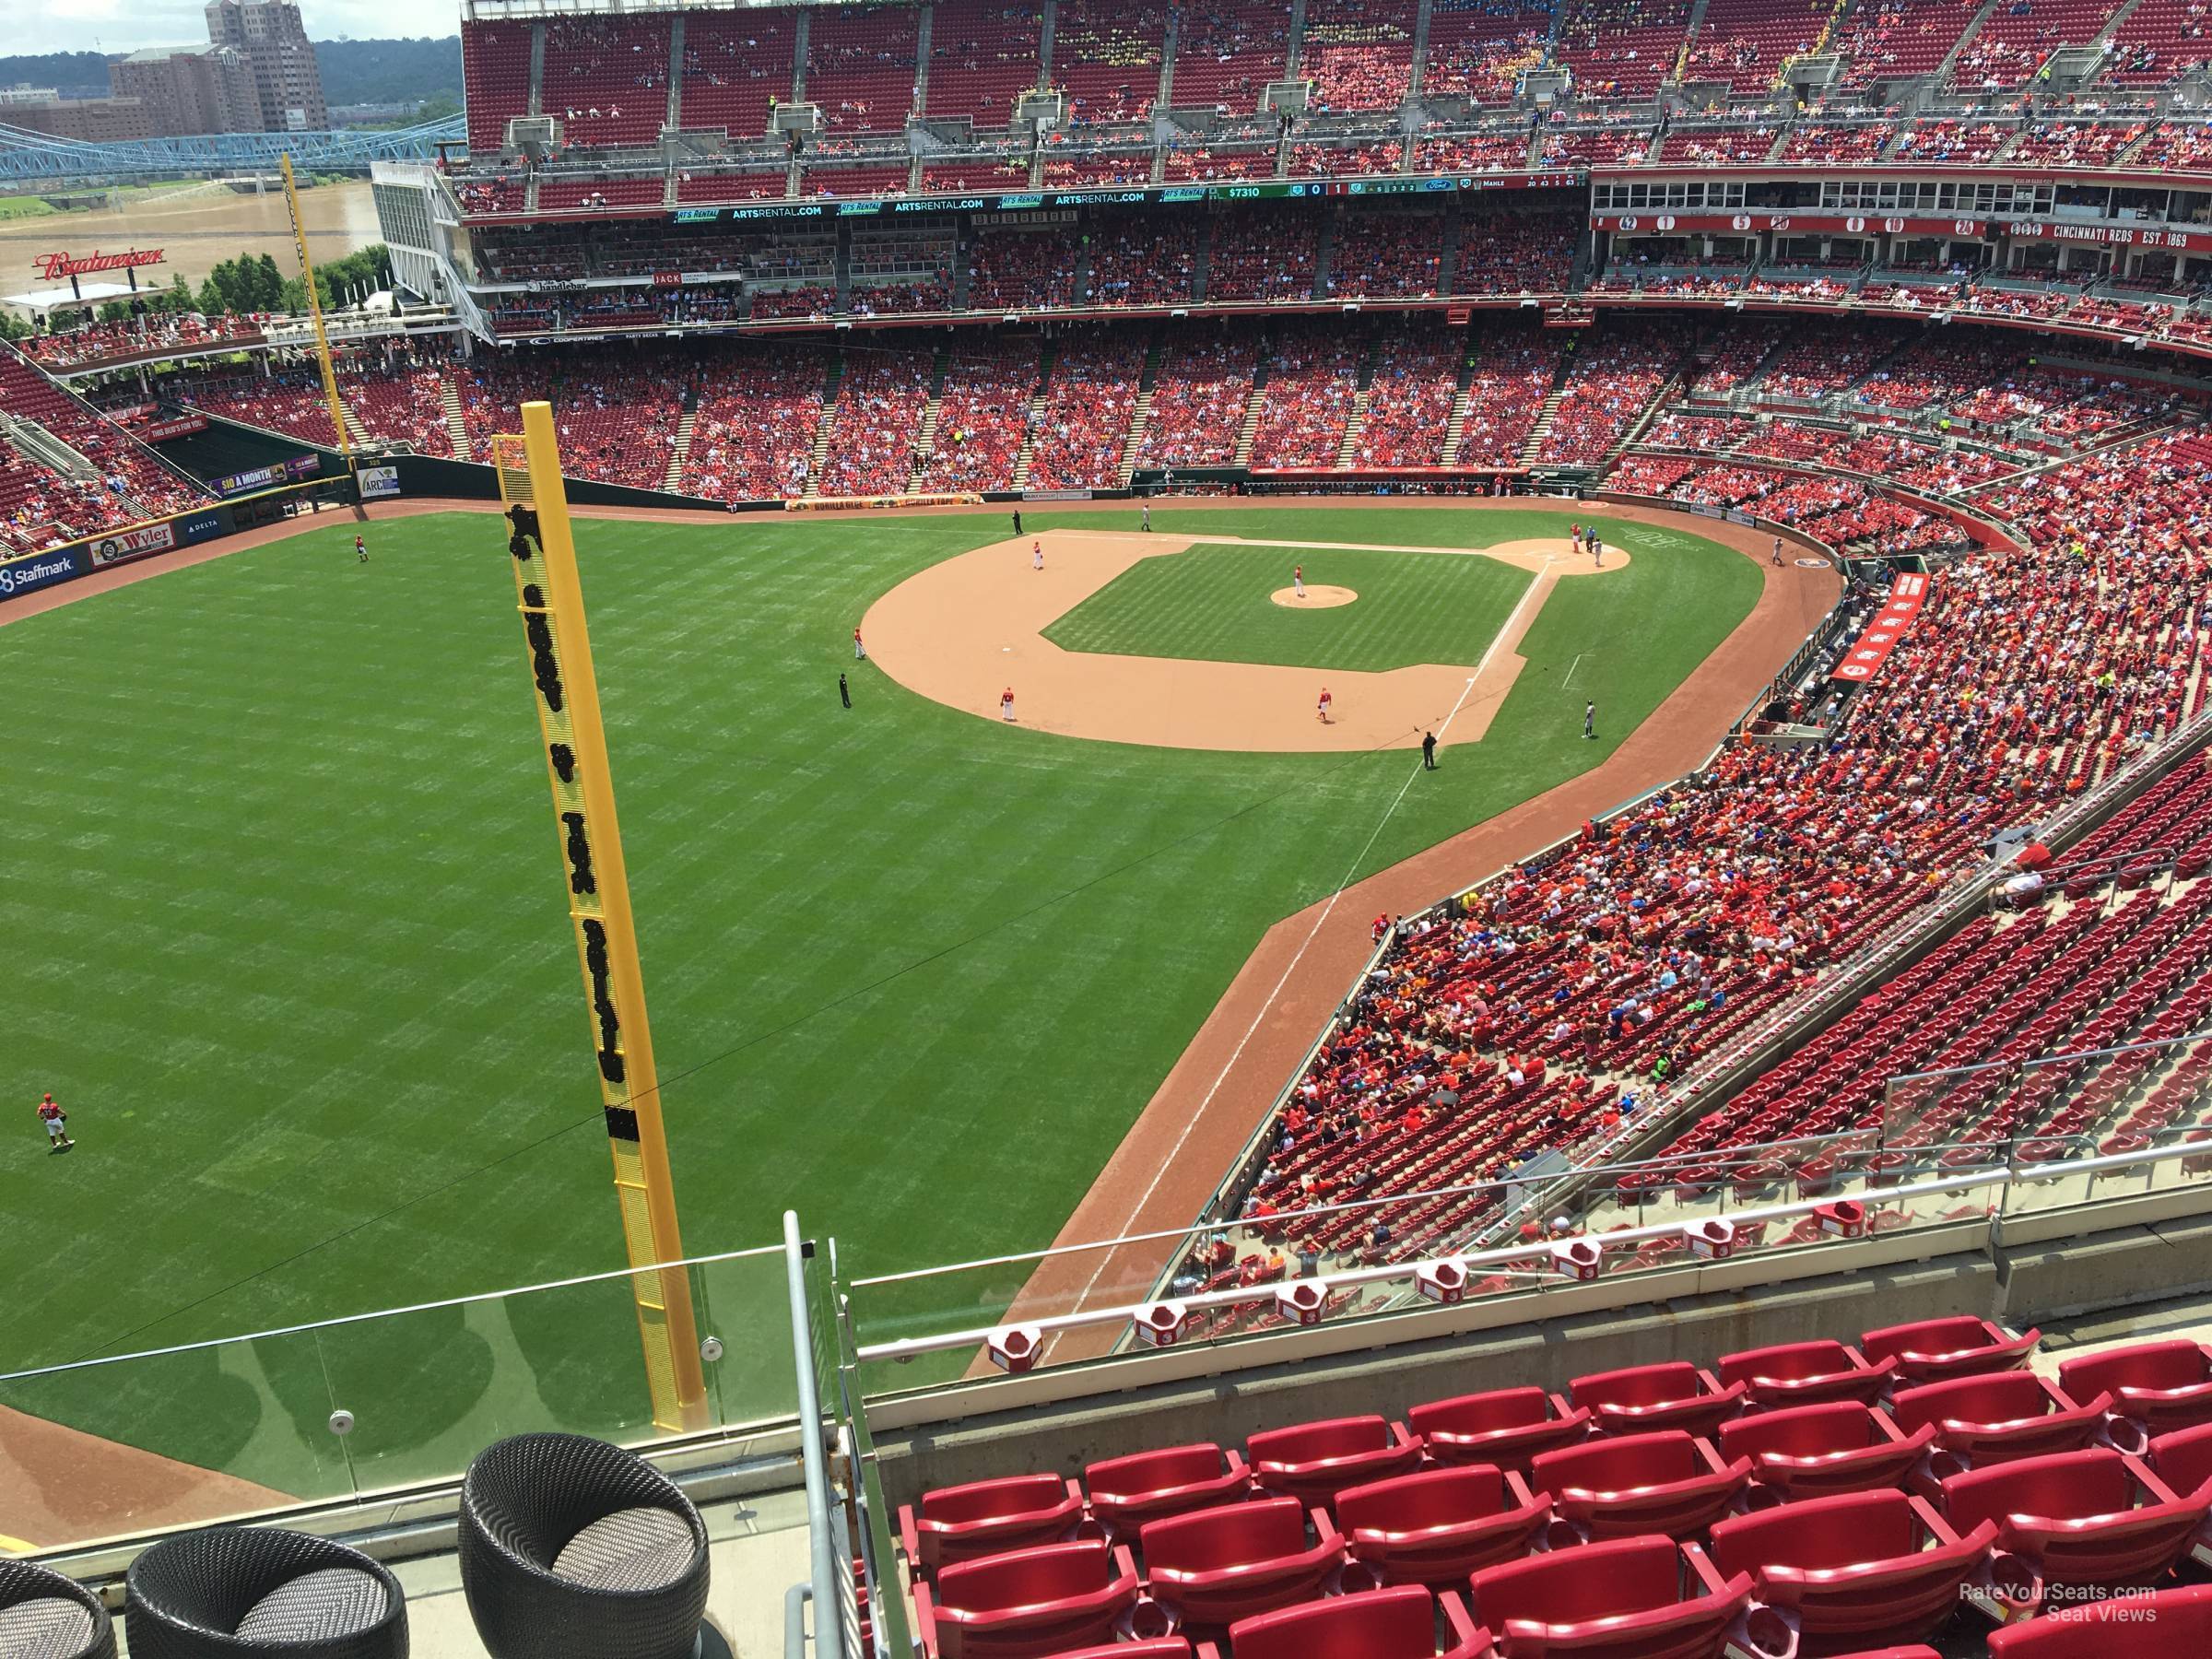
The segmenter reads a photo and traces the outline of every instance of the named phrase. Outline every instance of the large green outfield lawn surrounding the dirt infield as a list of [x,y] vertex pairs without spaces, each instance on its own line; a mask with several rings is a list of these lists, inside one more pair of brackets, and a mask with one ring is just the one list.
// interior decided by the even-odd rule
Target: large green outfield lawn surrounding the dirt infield
[[[1597,522],[1646,551],[1641,526]],[[1416,507],[1155,524],[1462,546],[1471,524],[1515,540],[1555,522]],[[0,1102],[20,1113],[0,1135],[0,1365],[622,1263],[493,529],[383,524],[356,566],[341,520],[0,628]],[[1761,584],[1683,535],[1562,582],[1489,739],[1376,834],[1402,752],[1068,741],[852,661],[876,595],[1000,535],[995,513],[580,526],[695,1254],[772,1241],[785,1206],[838,1237],[847,1272],[1046,1243],[1267,925],[1595,765]],[[1586,695],[1601,743],[1579,737]],[[46,1088],[75,1152],[44,1148]],[[400,1451],[445,1455],[502,1389],[628,1411],[606,1396],[628,1400],[635,1327],[619,1305],[599,1318],[604,1365],[546,1310],[451,1321],[409,1371]],[[288,1425],[345,1405],[345,1367],[294,1343],[0,1402],[285,1484],[303,1455]]]

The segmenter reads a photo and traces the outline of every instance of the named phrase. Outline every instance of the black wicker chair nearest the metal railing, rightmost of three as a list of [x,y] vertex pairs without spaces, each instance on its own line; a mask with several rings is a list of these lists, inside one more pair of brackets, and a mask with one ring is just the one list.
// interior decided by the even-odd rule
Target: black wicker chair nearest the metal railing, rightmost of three
[[460,1586],[491,1659],[686,1659],[706,1617],[706,1526],[622,1447],[524,1433],[469,1464]]

